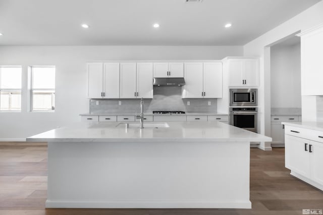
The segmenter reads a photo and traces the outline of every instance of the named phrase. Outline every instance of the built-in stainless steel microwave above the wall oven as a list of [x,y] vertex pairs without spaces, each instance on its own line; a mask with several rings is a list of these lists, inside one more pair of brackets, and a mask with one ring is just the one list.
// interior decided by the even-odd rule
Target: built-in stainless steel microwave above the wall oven
[[230,89],[230,106],[257,106],[257,89]]

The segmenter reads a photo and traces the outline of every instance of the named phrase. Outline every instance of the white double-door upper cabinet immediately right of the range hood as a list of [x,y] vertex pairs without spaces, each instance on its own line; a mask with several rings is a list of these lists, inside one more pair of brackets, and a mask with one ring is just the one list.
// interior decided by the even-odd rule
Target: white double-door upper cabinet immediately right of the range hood
[[222,98],[222,63],[184,63],[183,98]]

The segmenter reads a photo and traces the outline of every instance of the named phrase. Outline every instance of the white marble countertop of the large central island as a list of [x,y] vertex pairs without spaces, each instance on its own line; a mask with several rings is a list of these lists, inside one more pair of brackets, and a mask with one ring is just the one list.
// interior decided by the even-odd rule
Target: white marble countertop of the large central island
[[[168,128],[126,128],[125,122],[80,122],[28,137],[30,142],[178,142],[178,141],[272,141],[244,129],[212,122],[167,122]],[[133,123],[135,124],[135,123]],[[137,123],[138,124],[138,123]]]

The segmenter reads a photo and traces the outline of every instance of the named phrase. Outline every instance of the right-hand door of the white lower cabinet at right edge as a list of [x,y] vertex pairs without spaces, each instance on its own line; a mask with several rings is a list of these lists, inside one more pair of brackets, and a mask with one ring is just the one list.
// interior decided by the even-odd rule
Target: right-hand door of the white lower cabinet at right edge
[[311,179],[323,185],[323,143],[311,141],[310,176]]

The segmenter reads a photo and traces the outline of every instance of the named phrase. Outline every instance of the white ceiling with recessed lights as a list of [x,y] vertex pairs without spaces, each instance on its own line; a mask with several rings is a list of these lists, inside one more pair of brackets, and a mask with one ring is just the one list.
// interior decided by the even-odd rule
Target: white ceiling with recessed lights
[[244,45],[317,2],[0,0],[0,45]]

